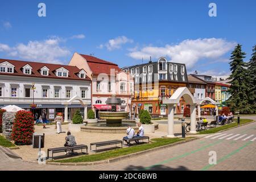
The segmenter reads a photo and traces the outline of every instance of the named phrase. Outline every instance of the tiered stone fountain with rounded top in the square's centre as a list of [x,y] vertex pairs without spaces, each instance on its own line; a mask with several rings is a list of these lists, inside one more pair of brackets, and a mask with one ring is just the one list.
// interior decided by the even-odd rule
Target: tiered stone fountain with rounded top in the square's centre
[[129,112],[117,111],[117,105],[121,105],[122,101],[120,98],[116,98],[115,95],[108,98],[106,104],[111,105],[111,111],[100,111],[101,119],[106,119],[107,127],[120,127],[122,126],[122,119],[128,118]]

